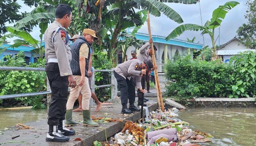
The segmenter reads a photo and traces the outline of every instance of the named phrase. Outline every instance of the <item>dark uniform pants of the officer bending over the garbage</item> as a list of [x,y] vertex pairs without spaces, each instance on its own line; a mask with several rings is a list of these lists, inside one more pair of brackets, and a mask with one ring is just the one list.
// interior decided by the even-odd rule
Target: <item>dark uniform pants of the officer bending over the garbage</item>
[[134,103],[135,101],[135,84],[133,82],[133,78],[128,80],[124,77],[120,76],[114,71],[114,76],[117,80],[118,87],[120,89],[121,94],[121,104],[127,104],[128,99],[129,103]]

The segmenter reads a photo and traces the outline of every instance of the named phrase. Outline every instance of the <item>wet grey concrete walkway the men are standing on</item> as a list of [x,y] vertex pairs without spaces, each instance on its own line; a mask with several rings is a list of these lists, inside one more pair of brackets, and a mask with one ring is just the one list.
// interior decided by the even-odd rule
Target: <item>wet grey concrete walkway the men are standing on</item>
[[[154,90],[152,90],[154,91]],[[148,110],[152,111],[158,108],[157,98],[149,97],[150,101],[147,102]],[[136,101],[138,99],[136,98]],[[106,137],[111,137],[117,132],[121,131],[125,120],[137,121],[140,118],[140,112],[131,115],[120,114],[121,112],[121,100],[114,99],[110,101],[113,104],[102,105],[102,109],[99,112],[95,112],[96,106],[91,106],[91,115],[95,118],[107,117],[124,119],[123,122],[111,122],[111,123],[99,123],[99,127],[85,127],[82,123],[78,126],[72,126],[76,130],[76,134],[70,136],[68,142],[57,143],[57,142],[46,142],[45,137],[48,131],[47,118],[30,122],[23,123],[27,126],[34,127],[35,129],[17,130],[18,127],[10,127],[7,131],[2,131],[0,135],[0,145],[3,146],[82,146],[81,141],[74,141],[75,138],[81,138],[84,146],[92,146],[95,140],[104,141]],[[45,113],[46,114],[46,113]],[[145,110],[144,110],[145,114]],[[73,119],[76,121],[82,121],[82,112],[73,112]],[[12,137],[16,137],[11,139]]]

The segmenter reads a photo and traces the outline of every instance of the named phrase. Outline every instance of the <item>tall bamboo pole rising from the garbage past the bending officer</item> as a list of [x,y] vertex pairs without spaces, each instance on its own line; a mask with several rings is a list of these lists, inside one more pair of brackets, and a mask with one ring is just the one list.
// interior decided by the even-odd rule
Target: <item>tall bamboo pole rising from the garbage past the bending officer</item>
[[[149,12],[147,12],[147,27],[148,27],[148,35],[149,35],[149,39],[152,39],[152,35],[151,35],[151,27],[150,27],[150,19],[149,19]],[[153,65],[154,67],[157,66],[157,62],[155,60],[155,51],[154,51],[154,47],[153,47],[153,42],[150,44],[151,45],[151,50],[152,50],[152,61],[153,61]],[[161,88],[160,88],[160,84],[159,84],[159,80],[158,80],[158,73],[157,73],[157,69],[155,68],[154,70],[155,73],[155,82],[157,83],[157,93],[159,94],[158,98],[161,104],[161,109],[162,111],[164,110],[163,107],[163,98],[162,98],[162,93],[161,93]]]

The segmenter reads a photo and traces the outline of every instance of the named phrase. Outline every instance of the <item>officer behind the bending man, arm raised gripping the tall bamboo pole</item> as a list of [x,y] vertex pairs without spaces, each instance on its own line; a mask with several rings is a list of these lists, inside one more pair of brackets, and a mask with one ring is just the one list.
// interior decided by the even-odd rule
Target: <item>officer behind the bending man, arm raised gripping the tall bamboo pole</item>
[[[144,61],[145,59],[147,60],[151,60],[152,62],[152,58],[151,58],[151,55],[152,55],[152,51],[151,51],[151,48],[147,50],[147,48],[150,46],[150,44],[153,42],[153,39],[150,39],[145,45],[143,45],[142,47],[140,47],[140,54],[139,56],[137,57],[137,59],[139,59],[140,61]],[[157,47],[155,47],[154,45],[154,52],[157,51]],[[157,66],[156,66],[157,68]],[[154,71],[154,67],[152,68],[152,70]],[[149,69],[147,72],[146,72],[146,83],[147,83],[147,92],[148,93],[151,93],[149,91],[150,89],[150,85],[149,85],[149,78],[150,78],[150,72],[151,72],[151,69]],[[140,91],[138,90],[138,97],[141,95]],[[144,102],[148,101],[148,99],[144,98]],[[142,105],[143,106],[146,106],[146,104],[144,103],[141,103],[140,100],[138,100],[138,105]]]

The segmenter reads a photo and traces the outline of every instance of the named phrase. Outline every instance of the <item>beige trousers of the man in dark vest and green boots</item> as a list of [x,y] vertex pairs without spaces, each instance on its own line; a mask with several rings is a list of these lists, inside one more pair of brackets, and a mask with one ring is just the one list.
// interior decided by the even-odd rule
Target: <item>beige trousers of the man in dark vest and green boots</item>
[[91,98],[91,90],[89,86],[89,81],[88,78],[84,78],[84,83],[80,87],[78,86],[78,83],[81,80],[81,76],[76,76],[73,75],[73,77],[76,80],[76,87],[71,88],[70,95],[68,97],[68,102],[67,102],[67,110],[72,110],[74,107],[74,103],[76,99],[78,98],[79,92],[83,95],[82,97],[82,109],[83,110],[89,110],[89,104],[90,104],[90,98]]

